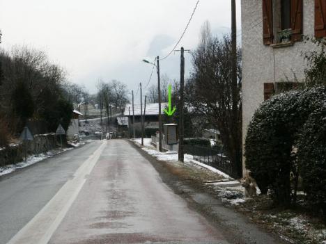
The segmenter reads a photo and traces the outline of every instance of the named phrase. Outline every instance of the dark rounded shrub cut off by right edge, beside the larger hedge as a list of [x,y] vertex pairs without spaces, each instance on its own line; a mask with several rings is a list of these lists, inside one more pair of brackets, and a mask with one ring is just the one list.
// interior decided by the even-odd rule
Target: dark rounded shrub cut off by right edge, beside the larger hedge
[[326,220],[326,104],[311,113],[306,121],[297,156],[309,205]]

